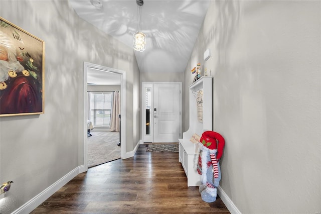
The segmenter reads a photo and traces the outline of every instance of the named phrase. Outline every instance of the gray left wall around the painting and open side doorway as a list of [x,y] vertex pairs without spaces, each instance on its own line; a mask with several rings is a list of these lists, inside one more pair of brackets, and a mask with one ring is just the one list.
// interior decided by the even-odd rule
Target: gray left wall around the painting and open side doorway
[[139,70],[131,48],[81,20],[68,1],[0,1],[0,14],[46,45],[45,114],[0,118],[0,181],[14,181],[0,201],[5,214],[84,164],[84,61],[126,72],[126,151],[134,148]]

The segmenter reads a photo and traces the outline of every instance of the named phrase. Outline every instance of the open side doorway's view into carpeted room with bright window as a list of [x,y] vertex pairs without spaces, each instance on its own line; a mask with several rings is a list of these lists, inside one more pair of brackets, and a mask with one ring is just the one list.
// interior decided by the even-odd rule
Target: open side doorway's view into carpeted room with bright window
[[[120,75],[102,71],[88,73],[88,82],[95,82],[92,76],[100,72],[101,78],[115,75],[118,80],[104,83],[107,85],[87,85],[88,121],[92,130],[87,138],[88,168],[120,158]],[[109,79],[109,78],[108,78]],[[115,84],[115,85],[111,85]],[[114,91],[109,91],[114,90]],[[88,132],[89,132],[88,131]]]

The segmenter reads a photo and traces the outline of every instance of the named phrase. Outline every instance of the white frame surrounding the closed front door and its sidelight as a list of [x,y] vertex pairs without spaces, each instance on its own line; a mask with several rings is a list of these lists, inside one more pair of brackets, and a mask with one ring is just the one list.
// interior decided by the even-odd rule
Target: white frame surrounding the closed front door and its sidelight
[[[144,130],[146,129],[146,124],[145,124],[145,87],[150,87],[153,93],[153,85],[154,84],[179,84],[180,85],[180,138],[182,138],[182,101],[183,101],[183,94],[182,94],[182,82],[141,82],[141,143],[144,142],[144,136],[145,132]],[[153,97],[151,97],[151,103],[153,103]],[[150,123],[153,124],[153,114],[152,114],[152,109],[151,109],[151,115],[150,115]],[[153,128],[152,128],[153,129]],[[151,132],[153,133],[153,132]],[[151,138],[152,139],[152,138]]]

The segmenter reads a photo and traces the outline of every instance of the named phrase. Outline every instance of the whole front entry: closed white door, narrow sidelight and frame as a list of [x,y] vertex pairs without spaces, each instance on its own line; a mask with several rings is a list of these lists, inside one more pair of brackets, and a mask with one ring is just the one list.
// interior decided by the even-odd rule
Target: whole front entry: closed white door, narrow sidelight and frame
[[182,82],[142,82],[143,143],[176,143],[182,136]]

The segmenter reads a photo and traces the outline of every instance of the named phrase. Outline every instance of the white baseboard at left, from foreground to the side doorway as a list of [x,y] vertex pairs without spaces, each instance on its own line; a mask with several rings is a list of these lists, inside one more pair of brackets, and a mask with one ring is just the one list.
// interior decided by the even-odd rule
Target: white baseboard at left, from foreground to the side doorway
[[47,200],[51,195],[53,195],[56,191],[58,191],[61,187],[63,187],[66,183],[68,183],[71,179],[73,179],[76,175],[80,173],[81,168],[83,166],[78,166],[77,168],[73,169],[71,172],[66,174],[64,177],[57,180],[54,184],[46,188],[44,191],[40,192],[34,198],[26,202],[24,205],[16,209],[14,214],[16,213],[30,213],[32,210],[37,208],[42,202]]

